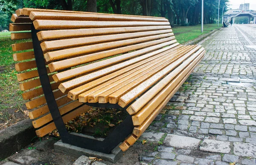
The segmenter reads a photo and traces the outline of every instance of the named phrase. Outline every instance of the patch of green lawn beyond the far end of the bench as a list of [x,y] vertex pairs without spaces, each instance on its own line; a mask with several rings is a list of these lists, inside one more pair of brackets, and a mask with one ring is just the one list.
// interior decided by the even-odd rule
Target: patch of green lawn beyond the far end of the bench
[[[219,26],[220,28],[221,26]],[[176,40],[180,43],[187,43],[198,38],[200,35],[207,34],[218,28],[217,24],[204,25],[204,32],[201,33],[201,25],[196,26],[174,26],[172,31],[175,34]]]

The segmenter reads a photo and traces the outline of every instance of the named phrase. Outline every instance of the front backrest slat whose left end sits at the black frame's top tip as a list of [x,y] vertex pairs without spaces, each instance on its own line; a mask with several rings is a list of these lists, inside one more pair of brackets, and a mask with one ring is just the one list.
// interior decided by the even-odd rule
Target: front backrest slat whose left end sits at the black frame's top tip
[[107,28],[126,26],[166,26],[169,22],[148,21],[72,21],[72,20],[34,20],[35,29],[69,29],[69,28]]

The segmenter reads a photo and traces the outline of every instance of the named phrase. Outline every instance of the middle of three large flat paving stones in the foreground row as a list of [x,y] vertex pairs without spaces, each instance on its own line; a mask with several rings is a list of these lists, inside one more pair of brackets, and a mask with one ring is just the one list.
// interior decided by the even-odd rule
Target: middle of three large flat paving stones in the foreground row
[[204,139],[204,141],[201,143],[200,150],[213,153],[229,153],[230,142]]

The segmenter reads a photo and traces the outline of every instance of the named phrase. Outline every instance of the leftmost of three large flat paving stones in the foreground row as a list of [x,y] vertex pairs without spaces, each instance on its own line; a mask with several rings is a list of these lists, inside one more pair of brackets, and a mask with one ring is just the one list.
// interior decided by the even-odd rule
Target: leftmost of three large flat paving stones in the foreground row
[[183,137],[174,134],[167,134],[166,138],[163,141],[164,145],[185,149],[198,148],[199,143],[200,139],[195,139],[192,137]]

